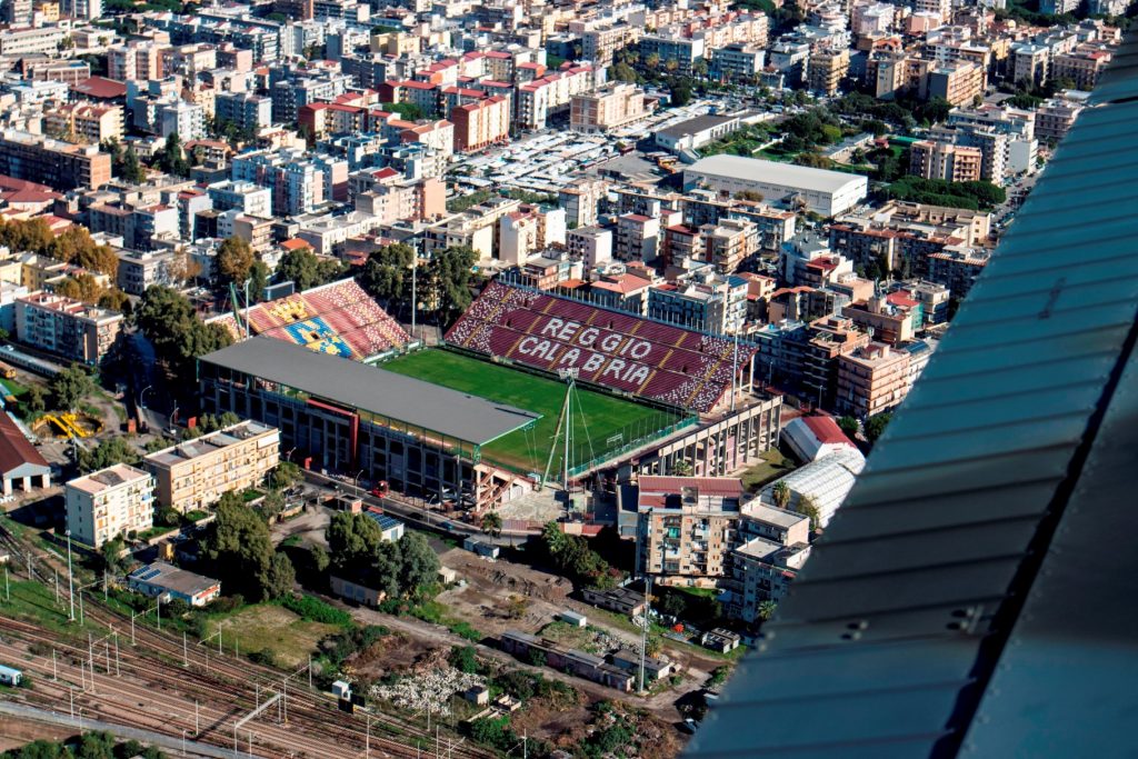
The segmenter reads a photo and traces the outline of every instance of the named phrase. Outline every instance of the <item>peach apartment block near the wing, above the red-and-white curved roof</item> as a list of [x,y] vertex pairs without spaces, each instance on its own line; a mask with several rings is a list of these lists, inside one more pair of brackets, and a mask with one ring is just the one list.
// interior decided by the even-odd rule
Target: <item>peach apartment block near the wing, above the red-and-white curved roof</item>
[[871,343],[838,357],[838,410],[866,419],[896,407],[908,394],[909,354]]

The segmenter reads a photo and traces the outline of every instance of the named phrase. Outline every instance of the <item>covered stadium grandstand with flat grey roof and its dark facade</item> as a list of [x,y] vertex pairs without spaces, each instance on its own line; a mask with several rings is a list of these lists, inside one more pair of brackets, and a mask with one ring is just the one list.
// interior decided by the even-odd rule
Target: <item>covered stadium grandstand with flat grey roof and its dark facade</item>
[[529,487],[481,457],[537,420],[521,409],[265,337],[203,356],[198,381],[204,412],[279,428],[312,469],[424,497],[462,493],[479,511]]

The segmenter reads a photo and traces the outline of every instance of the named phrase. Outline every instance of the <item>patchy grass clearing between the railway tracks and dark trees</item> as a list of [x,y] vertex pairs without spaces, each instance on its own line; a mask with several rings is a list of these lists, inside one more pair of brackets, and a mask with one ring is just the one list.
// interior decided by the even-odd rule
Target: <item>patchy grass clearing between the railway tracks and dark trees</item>
[[298,667],[316,650],[316,643],[340,628],[336,625],[310,622],[275,604],[246,607],[222,619],[211,619],[209,635],[218,629],[225,638],[237,633],[241,653],[272,651],[278,663]]

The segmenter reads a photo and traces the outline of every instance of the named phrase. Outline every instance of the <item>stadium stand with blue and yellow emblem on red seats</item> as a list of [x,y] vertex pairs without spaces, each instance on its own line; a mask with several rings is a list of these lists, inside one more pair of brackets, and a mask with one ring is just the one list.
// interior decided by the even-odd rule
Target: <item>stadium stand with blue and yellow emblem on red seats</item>
[[[241,317],[249,320],[254,335],[356,361],[402,348],[411,339],[353,279],[258,303]],[[232,314],[211,321],[242,337]]]

